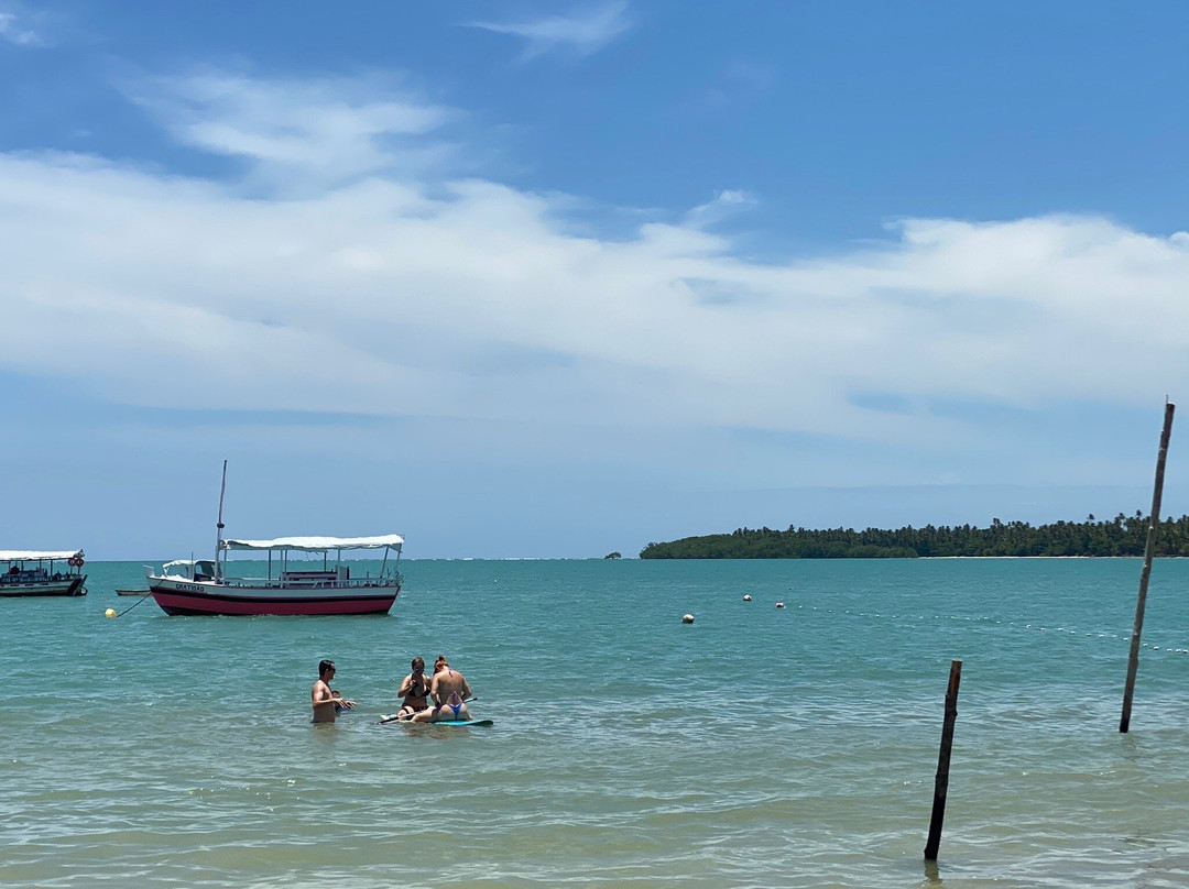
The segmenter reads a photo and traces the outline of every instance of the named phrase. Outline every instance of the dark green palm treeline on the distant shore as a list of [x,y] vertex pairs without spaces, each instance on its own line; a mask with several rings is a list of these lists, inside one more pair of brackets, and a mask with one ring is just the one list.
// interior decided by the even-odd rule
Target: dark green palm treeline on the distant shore
[[[1121,512],[1099,522],[1027,522],[976,525],[925,525],[894,531],[868,528],[812,530],[789,525],[740,528],[731,534],[685,537],[649,543],[641,559],[916,559],[918,556],[1141,556],[1147,542],[1147,517]],[[1156,534],[1156,555],[1189,556],[1189,516],[1168,518]]]

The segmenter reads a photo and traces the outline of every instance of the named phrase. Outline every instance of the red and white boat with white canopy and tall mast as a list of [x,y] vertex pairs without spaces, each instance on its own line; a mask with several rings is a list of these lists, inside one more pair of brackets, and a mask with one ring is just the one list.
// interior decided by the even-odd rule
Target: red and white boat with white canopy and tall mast
[[[224,461],[224,487],[227,461]],[[270,541],[224,540],[222,490],[219,493],[219,524],[213,560],[180,559],[165,562],[161,574],[145,566],[149,594],[166,614],[386,614],[401,592],[401,547],[396,534],[378,537],[277,537]],[[377,568],[342,563],[345,551],[384,550]],[[268,553],[264,560],[240,562],[264,576],[233,574],[227,554]],[[334,560],[331,560],[331,554]],[[390,561],[390,556],[396,557]],[[298,554],[291,559],[292,554]],[[304,554],[304,557],[301,557]],[[321,563],[316,556],[321,555]],[[314,556],[310,559],[310,556]],[[373,573],[375,572],[375,573]]]

